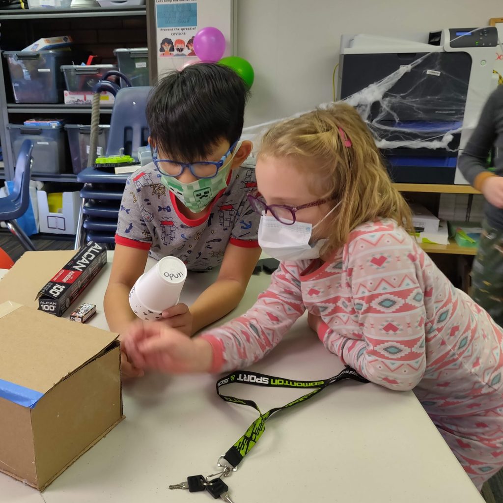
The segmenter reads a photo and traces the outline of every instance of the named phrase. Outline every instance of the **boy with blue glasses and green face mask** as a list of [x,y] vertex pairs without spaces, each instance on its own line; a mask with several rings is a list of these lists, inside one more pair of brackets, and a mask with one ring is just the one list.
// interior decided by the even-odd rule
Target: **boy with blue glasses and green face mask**
[[[255,169],[242,166],[252,145],[238,141],[247,95],[234,70],[214,63],[172,72],[154,87],[146,110],[154,161],[128,179],[119,211],[104,301],[112,331],[136,319],[129,291],[149,255],[178,257],[192,271],[221,264],[190,310],[178,304],[162,313],[160,322],[188,336],[241,300],[261,253],[260,215],[246,199]],[[124,355],[122,372],[140,374]]]

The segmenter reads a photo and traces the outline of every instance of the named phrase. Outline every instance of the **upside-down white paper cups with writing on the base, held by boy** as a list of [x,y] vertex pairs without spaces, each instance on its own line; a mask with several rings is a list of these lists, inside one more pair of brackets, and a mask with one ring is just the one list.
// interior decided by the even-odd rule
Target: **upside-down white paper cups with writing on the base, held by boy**
[[[178,304],[187,278],[187,267],[176,257],[164,257],[141,275],[129,293],[129,304],[136,315],[155,319],[164,309]],[[148,315],[148,316],[147,316]]]

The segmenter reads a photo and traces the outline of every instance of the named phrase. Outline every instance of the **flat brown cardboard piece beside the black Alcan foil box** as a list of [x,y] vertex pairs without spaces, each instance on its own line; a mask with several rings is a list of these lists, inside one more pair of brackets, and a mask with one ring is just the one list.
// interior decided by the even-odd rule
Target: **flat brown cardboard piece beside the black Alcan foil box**
[[0,281],[0,304],[7,300],[38,307],[38,292],[73,256],[75,250],[27,251]]

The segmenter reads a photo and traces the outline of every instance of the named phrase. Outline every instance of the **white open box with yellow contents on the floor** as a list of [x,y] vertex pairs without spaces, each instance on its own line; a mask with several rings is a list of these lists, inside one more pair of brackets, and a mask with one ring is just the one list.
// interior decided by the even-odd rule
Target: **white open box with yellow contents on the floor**
[[51,234],[75,234],[77,231],[80,195],[78,192],[63,192],[61,213],[51,213],[47,202],[47,192],[37,191],[40,232]]

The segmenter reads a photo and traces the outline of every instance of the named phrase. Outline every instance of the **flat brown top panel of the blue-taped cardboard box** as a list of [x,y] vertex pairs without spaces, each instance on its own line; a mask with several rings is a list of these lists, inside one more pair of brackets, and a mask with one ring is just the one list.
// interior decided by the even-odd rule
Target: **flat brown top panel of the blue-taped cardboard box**
[[[6,307],[0,305],[2,309]],[[0,379],[46,393],[116,338],[21,306],[0,318]]]

